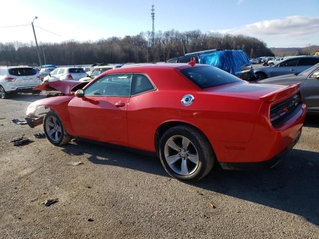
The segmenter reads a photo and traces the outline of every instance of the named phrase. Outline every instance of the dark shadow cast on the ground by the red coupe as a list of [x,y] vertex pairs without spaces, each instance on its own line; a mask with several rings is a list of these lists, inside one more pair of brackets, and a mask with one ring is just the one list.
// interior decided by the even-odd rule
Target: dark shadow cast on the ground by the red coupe
[[[62,148],[70,155],[88,154],[94,164],[169,177],[156,157],[81,141]],[[205,178],[190,185],[299,215],[319,225],[318,172],[319,153],[292,149],[273,169],[232,171],[215,165]]]

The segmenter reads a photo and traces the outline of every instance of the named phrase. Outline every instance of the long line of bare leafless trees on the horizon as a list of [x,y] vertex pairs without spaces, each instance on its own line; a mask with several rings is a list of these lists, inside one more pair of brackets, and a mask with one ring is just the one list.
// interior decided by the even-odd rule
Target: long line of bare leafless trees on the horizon
[[[159,62],[188,52],[207,49],[242,49],[248,57],[272,56],[266,43],[249,36],[202,33],[200,30],[179,32],[169,30],[155,34],[152,45],[152,32],[141,32],[134,36],[110,37],[98,41],[61,43],[40,43],[40,53],[47,64],[84,65],[95,62]],[[43,64],[43,63],[42,63]],[[34,43],[0,43],[0,65],[38,65]]]

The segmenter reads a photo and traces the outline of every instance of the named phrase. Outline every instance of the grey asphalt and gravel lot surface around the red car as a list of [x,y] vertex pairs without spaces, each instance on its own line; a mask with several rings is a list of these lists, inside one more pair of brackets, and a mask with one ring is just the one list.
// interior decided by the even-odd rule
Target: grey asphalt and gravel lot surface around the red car
[[[185,184],[171,179],[157,158],[32,138],[42,125],[11,119],[23,119],[43,97],[0,100],[1,239],[319,239],[319,117],[307,118],[299,143],[274,169],[217,166]],[[22,135],[32,142],[9,142]],[[58,202],[41,204],[52,198]]]

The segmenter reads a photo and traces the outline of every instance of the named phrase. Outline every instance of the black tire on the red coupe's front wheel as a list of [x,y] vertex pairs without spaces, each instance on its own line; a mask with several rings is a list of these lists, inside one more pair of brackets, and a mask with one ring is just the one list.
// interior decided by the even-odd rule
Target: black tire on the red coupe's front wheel
[[[53,120],[53,119],[56,119],[56,120]],[[54,136],[57,135],[56,140],[54,140],[54,136],[52,136],[53,134],[51,132],[49,132],[52,129],[54,129],[53,126],[49,125],[50,123],[54,123],[54,121],[56,122],[55,125],[60,125],[60,131],[53,132]],[[50,143],[57,145],[57,146],[67,144],[72,139],[72,137],[70,135],[68,135],[67,132],[65,131],[60,117],[54,111],[49,111],[45,115],[45,117],[43,119],[43,130],[44,130],[44,133],[45,133],[47,139],[50,141]]]

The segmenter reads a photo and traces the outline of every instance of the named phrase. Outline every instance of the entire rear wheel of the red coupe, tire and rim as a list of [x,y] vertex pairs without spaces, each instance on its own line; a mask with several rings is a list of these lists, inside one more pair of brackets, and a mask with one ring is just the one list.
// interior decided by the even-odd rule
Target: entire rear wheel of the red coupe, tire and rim
[[166,172],[184,182],[197,181],[206,176],[215,161],[205,135],[188,125],[177,125],[164,132],[159,150]]

